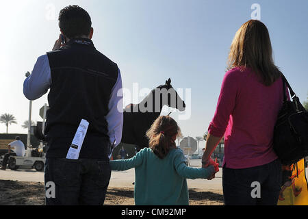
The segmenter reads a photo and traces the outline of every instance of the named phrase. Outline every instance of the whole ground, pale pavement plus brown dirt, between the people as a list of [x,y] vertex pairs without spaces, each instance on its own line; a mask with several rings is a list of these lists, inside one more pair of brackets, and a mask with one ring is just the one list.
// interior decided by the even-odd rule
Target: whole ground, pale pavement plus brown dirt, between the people
[[[201,160],[191,161],[201,167]],[[44,172],[29,168],[6,170],[0,177],[0,205],[44,205]],[[133,184],[135,170],[112,171],[105,205],[134,205]],[[188,179],[190,205],[223,205],[222,171],[216,179]]]

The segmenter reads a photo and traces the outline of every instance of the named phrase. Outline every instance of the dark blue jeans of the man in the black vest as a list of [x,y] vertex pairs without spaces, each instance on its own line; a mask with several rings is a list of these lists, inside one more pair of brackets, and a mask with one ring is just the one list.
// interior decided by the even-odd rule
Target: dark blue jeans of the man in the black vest
[[110,176],[109,160],[47,158],[46,205],[103,205]]

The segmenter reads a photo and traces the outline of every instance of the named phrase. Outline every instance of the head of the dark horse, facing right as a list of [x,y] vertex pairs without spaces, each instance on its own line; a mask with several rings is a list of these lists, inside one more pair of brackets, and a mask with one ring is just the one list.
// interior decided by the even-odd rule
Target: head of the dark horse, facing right
[[185,110],[185,102],[181,99],[175,88],[171,86],[169,78],[164,85],[158,86],[155,90],[159,90],[161,105],[175,108],[180,112]]

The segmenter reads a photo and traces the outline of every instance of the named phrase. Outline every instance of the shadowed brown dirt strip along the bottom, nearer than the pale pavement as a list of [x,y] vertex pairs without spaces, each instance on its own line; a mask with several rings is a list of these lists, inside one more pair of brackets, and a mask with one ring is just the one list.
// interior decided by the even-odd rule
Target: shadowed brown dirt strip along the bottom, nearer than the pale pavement
[[[190,205],[223,205],[221,190],[189,192]],[[0,180],[0,205],[44,205],[44,184]],[[108,188],[105,205],[134,205],[133,188]]]

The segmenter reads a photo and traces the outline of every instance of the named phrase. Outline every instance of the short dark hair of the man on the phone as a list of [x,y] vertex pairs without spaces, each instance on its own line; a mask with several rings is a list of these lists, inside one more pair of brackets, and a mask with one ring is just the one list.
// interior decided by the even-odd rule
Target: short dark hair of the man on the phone
[[90,15],[78,5],[69,5],[60,11],[59,27],[67,38],[88,36],[91,25]]

